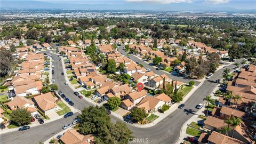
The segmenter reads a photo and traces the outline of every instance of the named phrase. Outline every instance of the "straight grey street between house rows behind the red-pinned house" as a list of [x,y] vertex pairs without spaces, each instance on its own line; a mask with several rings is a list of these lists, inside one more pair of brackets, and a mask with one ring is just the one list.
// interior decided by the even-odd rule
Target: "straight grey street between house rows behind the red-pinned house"
[[[119,46],[118,47],[118,51],[123,53],[124,55],[126,55],[127,53],[123,50],[124,49],[124,46]],[[155,67],[153,66],[150,66],[147,62],[139,59],[138,57],[135,57],[133,54],[130,54],[129,57],[131,57],[130,59],[133,60],[134,62],[139,62],[143,65],[143,68],[149,68],[151,71],[153,71],[155,74],[157,75],[167,75],[169,76],[171,79],[174,79],[174,80],[178,80],[178,81],[181,81],[183,83],[189,83],[189,81],[191,81],[190,78],[187,78],[187,77],[181,77],[181,76],[174,76],[170,73],[166,73],[166,71],[163,71],[163,70],[156,70]],[[198,85],[200,82],[198,81],[195,81],[195,85]]]

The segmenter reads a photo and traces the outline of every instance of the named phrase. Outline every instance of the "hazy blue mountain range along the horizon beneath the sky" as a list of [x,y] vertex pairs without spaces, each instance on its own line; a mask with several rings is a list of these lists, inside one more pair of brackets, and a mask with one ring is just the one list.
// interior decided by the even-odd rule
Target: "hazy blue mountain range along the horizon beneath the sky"
[[[107,2],[107,1],[106,1]],[[155,11],[205,11],[205,12],[250,12],[255,10],[239,10],[231,7],[210,7],[198,3],[123,3],[123,4],[72,4],[51,3],[41,1],[1,1],[1,9],[65,9],[65,10],[155,10]]]

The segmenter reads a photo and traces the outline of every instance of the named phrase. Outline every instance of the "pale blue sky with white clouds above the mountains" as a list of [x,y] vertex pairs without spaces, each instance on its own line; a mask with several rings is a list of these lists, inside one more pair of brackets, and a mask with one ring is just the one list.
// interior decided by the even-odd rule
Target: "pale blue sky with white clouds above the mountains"
[[[2,0],[1,0],[2,1]],[[12,1],[12,0],[4,0]],[[17,0],[15,0],[17,1]],[[18,0],[22,1],[22,0]],[[26,0],[32,1],[32,0]],[[190,4],[191,6],[199,5],[206,7],[230,7],[238,10],[255,10],[256,11],[256,0],[111,0],[111,1],[102,1],[102,0],[80,0],[80,1],[70,1],[70,0],[34,0],[41,2],[50,2],[50,3],[71,3],[71,4],[153,4],[157,6],[164,6],[168,4],[179,4],[185,5]]]

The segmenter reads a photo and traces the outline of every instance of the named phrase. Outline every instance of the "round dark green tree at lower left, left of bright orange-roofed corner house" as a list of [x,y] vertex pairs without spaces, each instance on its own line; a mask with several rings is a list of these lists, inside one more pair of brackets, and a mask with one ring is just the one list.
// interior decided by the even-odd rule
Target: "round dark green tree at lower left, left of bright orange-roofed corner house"
[[15,125],[21,126],[21,125],[26,125],[30,123],[30,113],[27,111],[27,109],[23,108],[18,108],[16,110],[13,110],[12,113],[10,114],[11,117],[11,122],[14,123]]

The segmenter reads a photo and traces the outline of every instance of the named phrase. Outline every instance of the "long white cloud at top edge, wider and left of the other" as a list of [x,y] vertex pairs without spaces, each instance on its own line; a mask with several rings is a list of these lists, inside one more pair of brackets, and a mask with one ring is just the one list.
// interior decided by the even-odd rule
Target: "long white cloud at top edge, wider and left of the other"
[[192,0],[125,0],[125,2],[170,4],[170,3],[192,3]]

